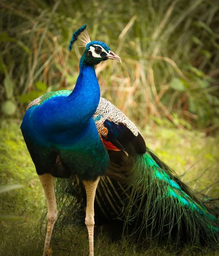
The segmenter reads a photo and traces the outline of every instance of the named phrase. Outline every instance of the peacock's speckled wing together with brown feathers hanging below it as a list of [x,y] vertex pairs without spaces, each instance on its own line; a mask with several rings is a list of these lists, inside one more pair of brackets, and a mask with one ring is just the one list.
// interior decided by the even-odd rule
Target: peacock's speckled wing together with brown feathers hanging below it
[[137,154],[144,154],[146,145],[136,125],[105,98],[100,98],[94,122],[106,147],[110,165],[106,175],[126,182]]

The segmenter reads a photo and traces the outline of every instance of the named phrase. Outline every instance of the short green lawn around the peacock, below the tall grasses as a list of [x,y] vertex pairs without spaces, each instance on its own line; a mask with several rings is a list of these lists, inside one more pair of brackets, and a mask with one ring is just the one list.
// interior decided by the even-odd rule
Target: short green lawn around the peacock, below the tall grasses
[[[0,254],[4,256],[42,255],[44,241],[40,236],[39,223],[46,212],[45,198],[34,165],[26,149],[20,120],[1,119],[0,125],[0,184],[22,184],[23,187],[0,194]],[[146,144],[163,161],[169,164],[184,182],[196,191],[209,187],[219,180],[219,136],[206,137],[200,131],[184,131],[156,126],[142,129]],[[192,181],[207,171],[197,180]],[[203,190],[209,197],[219,197],[218,184]],[[54,245],[53,255],[88,255],[88,236],[85,226],[75,226],[66,231],[59,242],[62,250]],[[114,230],[111,230],[111,232]],[[114,231],[115,232],[115,231]],[[154,242],[137,246],[125,239],[111,240],[109,227],[96,227],[94,249],[96,256],[216,256],[219,251],[192,246],[175,251],[171,247],[157,246]],[[71,237],[69,237],[71,236]],[[66,242],[66,241],[69,242]]]

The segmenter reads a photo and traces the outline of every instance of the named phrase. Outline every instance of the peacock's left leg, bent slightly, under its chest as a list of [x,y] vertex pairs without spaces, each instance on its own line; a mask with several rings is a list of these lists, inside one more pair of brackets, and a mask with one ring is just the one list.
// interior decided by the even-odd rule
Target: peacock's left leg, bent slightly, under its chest
[[56,197],[54,191],[54,177],[49,173],[39,175],[39,179],[44,189],[47,203],[47,229],[46,229],[46,238],[44,243],[44,253],[43,256],[50,256],[50,240],[52,236],[52,230],[57,218],[57,206],[56,206]]

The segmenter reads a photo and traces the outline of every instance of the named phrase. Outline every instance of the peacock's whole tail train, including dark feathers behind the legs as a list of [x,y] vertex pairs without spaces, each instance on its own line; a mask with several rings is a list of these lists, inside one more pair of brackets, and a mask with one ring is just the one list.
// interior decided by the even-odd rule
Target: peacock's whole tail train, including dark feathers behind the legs
[[[136,156],[133,163],[126,183],[107,176],[100,178],[94,205],[96,224],[120,223],[122,234],[138,242],[153,238],[158,242],[219,247],[219,219],[173,170],[149,149]],[[69,210],[69,207],[73,207],[75,198],[82,209],[86,196],[82,182],[75,178],[65,182],[58,179],[56,185],[57,201],[62,201],[64,210],[60,212],[62,220],[57,221],[61,227],[60,222],[69,224],[69,219],[73,219],[74,209]],[[73,195],[73,203],[69,203],[69,195]]]

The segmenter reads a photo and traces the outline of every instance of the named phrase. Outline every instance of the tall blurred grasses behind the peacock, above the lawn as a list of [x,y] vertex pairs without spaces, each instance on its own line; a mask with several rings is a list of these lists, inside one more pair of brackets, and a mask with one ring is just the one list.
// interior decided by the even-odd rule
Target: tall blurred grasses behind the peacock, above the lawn
[[[1,1],[0,91],[5,115],[44,92],[72,89],[88,25],[123,64],[97,66],[102,95],[140,126],[148,122],[215,130],[219,124],[217,0]],[[81,51],[81,49],[80,49]],[[162,119],[163,118],[163,119]]]

